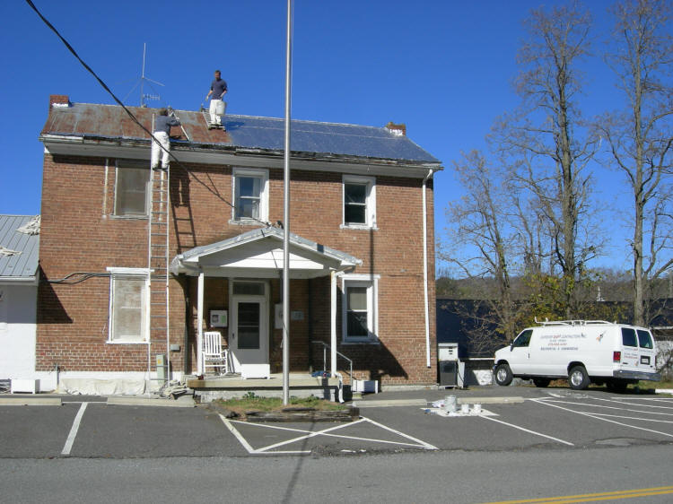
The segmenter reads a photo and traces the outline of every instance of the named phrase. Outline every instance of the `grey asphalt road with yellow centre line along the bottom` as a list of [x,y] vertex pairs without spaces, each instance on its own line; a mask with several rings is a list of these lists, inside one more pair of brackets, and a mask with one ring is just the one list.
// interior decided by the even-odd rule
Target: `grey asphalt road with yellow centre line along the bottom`
[[[670,453],[669,446],[654,445],[354,457],[3,459],[0,500],[315,504],[538,499],[670,485]],[[669,492],[636,501],[670,500]]]

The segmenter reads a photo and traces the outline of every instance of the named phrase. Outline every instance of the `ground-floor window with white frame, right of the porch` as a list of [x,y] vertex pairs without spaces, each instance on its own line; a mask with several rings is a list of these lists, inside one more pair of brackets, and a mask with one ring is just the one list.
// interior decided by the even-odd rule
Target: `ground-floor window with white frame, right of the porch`
[[376,341],[378,332],[377,291],[378,278],[372,279],[370,275],[345,275],[342,297],[344,342],[370,343]]

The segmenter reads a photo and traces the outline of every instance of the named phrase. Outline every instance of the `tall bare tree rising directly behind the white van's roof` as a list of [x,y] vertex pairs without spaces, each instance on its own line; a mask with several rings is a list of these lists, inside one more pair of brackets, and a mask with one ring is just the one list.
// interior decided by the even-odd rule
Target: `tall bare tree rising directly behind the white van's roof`
[[[549,13],[531,12],[529,39],[518,58],[516,88],[522,104],[496,123],[493,135],[511,167],[511,182],[528,193],[529,208],[538,212],[534,220],[544,221],[537,230],[548,234],[551,266],[559,270],[550,274],[561,276],[558,292],[566,317],[572,315],[574,289],[584,265],[598,249],[587,239],[590,235],[582,222],[588,216],[587,164],[596,143],[583,127],[575,103],[581,91],[577,65],[588,54],[590,22],[589,13],[578,4],[555,7]],[[530,248],[530,253],[536,249],[542,250]],[[531,261],[541,265],[542,257]]]

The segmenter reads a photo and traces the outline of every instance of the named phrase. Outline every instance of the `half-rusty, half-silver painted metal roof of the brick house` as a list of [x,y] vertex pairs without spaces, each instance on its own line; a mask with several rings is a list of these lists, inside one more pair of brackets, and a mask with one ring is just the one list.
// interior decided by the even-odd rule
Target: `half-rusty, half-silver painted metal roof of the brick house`
[[[128,107],[148,129],[157,109]],[[209,130],[201,111],[176,110],[192,143],[211,145],[215,149],[252,149],[278,152],[284,149],[284,119],[225,115],[226,132]],[[395,135],[385,127],[356,126],[314,121],[293,120],[291,149],[316,157],[345,156],[368,159],[406,161],[410,164],[440,164],[430,153],[404,135]],[[179,127],[177,143],[188,143]],[[49,110],[41,135],[65,135],[103,139],[149,140],[127,112],[117,105],[70,103]]]

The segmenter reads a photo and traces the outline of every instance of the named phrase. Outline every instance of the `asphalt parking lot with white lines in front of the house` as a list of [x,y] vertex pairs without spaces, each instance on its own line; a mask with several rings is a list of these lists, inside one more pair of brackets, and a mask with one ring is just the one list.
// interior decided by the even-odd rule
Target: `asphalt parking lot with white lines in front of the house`
[[[481,414],[441,416],[445,395],[482,401]],[[516,401],[512,401],[516,399]],[[201,405],[109,405],[63,397],[60,406],[0,406],[2,457],[364,455],[397,451],[628,447],[673,442],[673,398],[484,387],[367,396],[354,422],[247,423]]]

